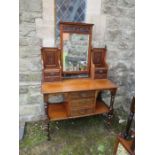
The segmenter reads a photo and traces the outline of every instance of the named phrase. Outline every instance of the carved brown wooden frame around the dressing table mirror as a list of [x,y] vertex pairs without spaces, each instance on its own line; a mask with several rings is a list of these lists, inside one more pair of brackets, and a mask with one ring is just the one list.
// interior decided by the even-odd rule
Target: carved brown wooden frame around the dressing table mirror
[[[92,43],[92,28],[94,24],[77,23],[77,22],[60,22],[60,48],[61,48],[61,66],[62,74],[90,75],[90,62],[91,62],[91,43]],[[88,46],[88,65],[87,70],[84,71],[63,71],[63,33],[70,34],[86,34],[89,35],[89,46]]]

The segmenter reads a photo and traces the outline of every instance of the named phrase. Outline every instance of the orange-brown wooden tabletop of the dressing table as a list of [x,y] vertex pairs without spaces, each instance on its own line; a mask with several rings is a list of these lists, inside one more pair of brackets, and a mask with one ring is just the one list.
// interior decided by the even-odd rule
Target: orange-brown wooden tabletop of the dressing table
[[41,85],[43,94],[107,89],[117,89],[117,86],[108,79],[92,80],[89,78],[43,82]]

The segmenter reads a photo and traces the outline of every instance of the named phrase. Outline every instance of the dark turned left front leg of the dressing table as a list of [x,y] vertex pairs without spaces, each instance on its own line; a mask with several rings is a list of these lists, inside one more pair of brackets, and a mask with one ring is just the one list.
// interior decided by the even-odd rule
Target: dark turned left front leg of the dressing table
[[47,137],[48,140],[50,140],[50,120],[48,117],[48,94],[44,94],[44,107],[45,107]]

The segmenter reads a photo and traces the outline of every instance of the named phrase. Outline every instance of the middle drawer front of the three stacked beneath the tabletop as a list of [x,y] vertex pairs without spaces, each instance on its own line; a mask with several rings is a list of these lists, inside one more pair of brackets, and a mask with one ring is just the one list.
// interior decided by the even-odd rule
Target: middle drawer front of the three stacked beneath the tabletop
[[71,108],[92,107],[93,105],[95,105],[95,98],[85,98],[70,101]]

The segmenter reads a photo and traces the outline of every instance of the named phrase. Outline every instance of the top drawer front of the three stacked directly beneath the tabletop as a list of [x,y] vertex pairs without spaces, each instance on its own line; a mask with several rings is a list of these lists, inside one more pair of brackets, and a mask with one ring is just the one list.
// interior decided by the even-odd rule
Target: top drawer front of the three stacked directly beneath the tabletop
[[70,99],[81,99],[95,97],[95,91],[73,92],[69,94]]

